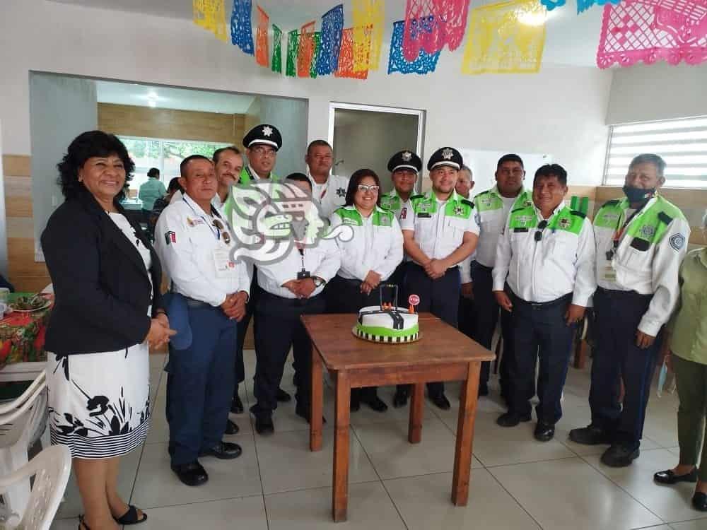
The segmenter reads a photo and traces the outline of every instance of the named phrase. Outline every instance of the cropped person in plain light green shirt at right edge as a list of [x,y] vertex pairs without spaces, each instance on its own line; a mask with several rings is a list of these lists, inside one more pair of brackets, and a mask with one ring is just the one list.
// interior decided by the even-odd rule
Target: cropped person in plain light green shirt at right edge
[[[707,243],[707,211],[702,219]],[[707,444],[702,447],[707,410],[707,247],[689,252],[679,271],[680,298],[668,324],[668,364],[677,381],[677,437],[680,461],[653,475],[659,484],[696,482],[692,505],[707,512]],[[702,447],[699,469],[697,457]]]

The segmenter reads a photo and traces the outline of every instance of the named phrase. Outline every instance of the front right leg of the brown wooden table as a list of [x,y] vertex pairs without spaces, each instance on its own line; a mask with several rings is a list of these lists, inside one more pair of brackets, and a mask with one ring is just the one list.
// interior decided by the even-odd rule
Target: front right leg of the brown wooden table
[[481,363],[469,363],[467,380],[462,383],[459,420],[457,422],[457,447],[454,455],[452,478],[452,502],[466,506],[469,500],[469,479],[472,474],[472,444],[474,442],[474,419],[477,416],[479,394],[479,370]]

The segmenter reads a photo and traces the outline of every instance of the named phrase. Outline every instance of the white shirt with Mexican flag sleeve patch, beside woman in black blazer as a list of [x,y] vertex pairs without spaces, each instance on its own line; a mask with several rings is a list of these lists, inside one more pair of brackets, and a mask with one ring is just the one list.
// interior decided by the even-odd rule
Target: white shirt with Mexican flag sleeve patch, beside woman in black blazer
[[[229,271],[217,273],[216,256],[236,244],[212,223],[187,194],[163,210],[155,228],[155,250],[177,293],[217,307],[226,296],[250,290],[250,276],[243,261],[231,262]],[[226,218],[220,218],[226,224]],[[214,252],[217,254],[214,254]]]

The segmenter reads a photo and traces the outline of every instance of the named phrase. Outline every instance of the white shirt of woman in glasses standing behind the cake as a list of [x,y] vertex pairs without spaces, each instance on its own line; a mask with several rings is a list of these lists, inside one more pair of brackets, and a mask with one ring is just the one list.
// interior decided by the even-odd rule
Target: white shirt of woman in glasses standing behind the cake
[[[346,210],[356,210],[355,206],[344,206]],[[356,210],[358,213],[358,210]],[[349,280],[366,279],[368,271],[380,274],[382,280],[387,280],[402,261],[402,232],[400,225],[392,212],[376,206],[375,211],[384,216],[390,215],[390,224],[373,224],[374,213],[368,217],[361,216],[361,226],[346,223],[339,213],[332,213],[332,228],[348,224],[354,230],[350,241],[337,239],[341,251],[341,269],[339,276]],[[360,215],[360,214],[359,214]]]

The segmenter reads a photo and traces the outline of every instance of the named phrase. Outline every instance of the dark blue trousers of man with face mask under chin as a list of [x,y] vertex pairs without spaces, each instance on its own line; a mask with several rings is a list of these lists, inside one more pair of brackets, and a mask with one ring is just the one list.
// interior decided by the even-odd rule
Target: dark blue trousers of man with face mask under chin
[[[636,346],[636,330],[651,298],[602,288],[594,295],[597,348],[589,393],[592,423],[611,432],[616,442],[634,447],[641,444],[650,382],[662,341],[662,334],[658,334],[650,348]],[[626,390],[623,408],[619,403],[621,379]]]

